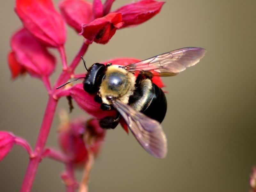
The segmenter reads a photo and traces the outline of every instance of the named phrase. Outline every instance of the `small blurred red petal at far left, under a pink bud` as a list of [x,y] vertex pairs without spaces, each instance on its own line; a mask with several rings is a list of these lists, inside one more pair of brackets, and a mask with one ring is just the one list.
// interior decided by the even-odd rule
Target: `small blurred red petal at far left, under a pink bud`
[[8,64],[11,70],[12,79],[15,79],[18,75],[26,72],[25,68],[16,60],[15,53],[13,51],[8,54]]

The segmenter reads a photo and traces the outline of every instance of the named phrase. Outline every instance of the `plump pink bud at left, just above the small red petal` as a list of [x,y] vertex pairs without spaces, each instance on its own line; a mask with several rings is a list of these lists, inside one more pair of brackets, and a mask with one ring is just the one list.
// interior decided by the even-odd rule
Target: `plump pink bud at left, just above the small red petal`
[[[9,65],[21,65],[20,71],[26,69],[31,76],[49,76],[55,68],[55,58],[47,51],[45,45],[39,43],[26,29],[20,29],[11,39],[13,50]],[[15,56],[15,60],[14,60]],[[14,64],[14,62],[17,62]],[[13,68],[11,68],[13,73]]]

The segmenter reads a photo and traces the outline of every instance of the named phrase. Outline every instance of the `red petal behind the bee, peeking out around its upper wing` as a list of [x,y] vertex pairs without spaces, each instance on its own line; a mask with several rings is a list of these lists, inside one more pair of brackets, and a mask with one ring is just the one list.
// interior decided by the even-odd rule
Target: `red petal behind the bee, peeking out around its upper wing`
[[[101,62],[101,63],[103,63],[103,64],[105,64],[105,65],[106,65],[107,63],[112,63],[113,65],[122,65],[122,66],[126,66],[126,65],[129,65],[129,64],[131,64],[131,63],[136,63],[136,62],[139,62],[139,61],[141,61],[141,60],[140,60],[140,59],[136,59],[136,58],[128,58],[128,57],[126,57],[126,58],[111,59],[111,60],[103,61],[103,62]],[[137,76],[137,75],[135,74],[135,76]],[[156,85],[157,85],[158,87],[160,87],[160,88],[162,88],[162,87],[165,86],[164,83],[162,82],[161,77],[159,77],[159,76],[153,76],[152,82],[153,82],[154,84],[156,84]]]

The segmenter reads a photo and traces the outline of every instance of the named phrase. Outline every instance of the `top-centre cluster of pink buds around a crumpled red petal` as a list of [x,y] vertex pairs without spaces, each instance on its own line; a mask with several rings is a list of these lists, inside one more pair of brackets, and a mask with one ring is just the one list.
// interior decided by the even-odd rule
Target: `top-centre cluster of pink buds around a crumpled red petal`
[[[94,0],[92,8],[86,1],[83,1],[84,3],[81,2],[81,0],[62,1],[60,3],[61,13],[67,23],[75,28],[76,31],[79,31],[82,26],[80,34],[86,39],[100,44],[108,43],[115,34],[116,29],[138,25],[152,18],[161,10],[164,4],[161,1],[141,0],[117,9],[110,16],[109,12],[114,0],[106,0],[104,4],[100,0]],[[81,6],[76,6],[78,3]],[[85,15],[84,12],[87,12],[90,8],[92,11]],[[122,16],[118,14],[120,12]],[[92,15],[95,20],[91,20]]]

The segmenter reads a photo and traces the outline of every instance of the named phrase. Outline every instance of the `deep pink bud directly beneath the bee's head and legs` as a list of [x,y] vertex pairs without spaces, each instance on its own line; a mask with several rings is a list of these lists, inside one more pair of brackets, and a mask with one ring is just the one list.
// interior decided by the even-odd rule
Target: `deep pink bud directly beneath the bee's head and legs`
[[91,116],[102,119],[106,116],[115,116],[116,111],[104,111],[100,108],[100,103],[94,101],[94,96],[84,91],[83,84],[79,83],[70,88],[70,95],[77,105]]

